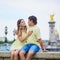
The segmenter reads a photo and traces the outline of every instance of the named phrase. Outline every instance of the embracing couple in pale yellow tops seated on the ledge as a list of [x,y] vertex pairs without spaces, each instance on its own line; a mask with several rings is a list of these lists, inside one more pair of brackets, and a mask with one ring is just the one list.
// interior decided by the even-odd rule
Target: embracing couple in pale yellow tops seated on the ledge
[[[35,16],[28,17],[28,26],[26,26],[24,19],[19,19],[15,33],[17,40],[11,46],[11,60],[18,60],[18,55],[20,60],[32,60],[32,56],[40,50],[40,46],[44,51]],[[26,53],[28,53],[27,57],[25,57]]]

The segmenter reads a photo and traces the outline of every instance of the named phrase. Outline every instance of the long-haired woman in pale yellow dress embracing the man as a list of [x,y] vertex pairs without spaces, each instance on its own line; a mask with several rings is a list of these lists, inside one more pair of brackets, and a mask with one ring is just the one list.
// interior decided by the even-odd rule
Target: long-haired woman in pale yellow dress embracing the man
[[15,30],[15,33],[17,40],[11,46],[11,60],[18,60],[18,53],[21,47],[26,44],[27,38],[32,34],[32,32],[27,33],[26,24],[23,19],[17,21],[17,30]]

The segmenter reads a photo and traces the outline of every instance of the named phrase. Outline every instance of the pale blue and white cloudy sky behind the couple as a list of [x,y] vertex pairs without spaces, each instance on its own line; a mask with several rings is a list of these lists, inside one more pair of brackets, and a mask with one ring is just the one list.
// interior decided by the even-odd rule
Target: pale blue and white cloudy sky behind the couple
[[60,0],[0,0],[0,37],[4,35],[4,27],[8,27],[8,39],[13,39],[13,30],[17,20],[23,18],[27,24],[28,17],[34,15],[38,19],[41,38],[49,39],[50,14],[54,14],[55,28],[60,34]]

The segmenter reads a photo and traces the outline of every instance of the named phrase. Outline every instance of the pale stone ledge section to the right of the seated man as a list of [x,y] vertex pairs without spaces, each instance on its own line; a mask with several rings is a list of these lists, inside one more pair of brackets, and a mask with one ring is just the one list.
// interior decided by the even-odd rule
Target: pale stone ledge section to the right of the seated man
[[38,52],[34,58],[60,59],[60,52]]

